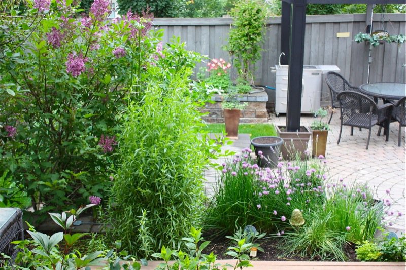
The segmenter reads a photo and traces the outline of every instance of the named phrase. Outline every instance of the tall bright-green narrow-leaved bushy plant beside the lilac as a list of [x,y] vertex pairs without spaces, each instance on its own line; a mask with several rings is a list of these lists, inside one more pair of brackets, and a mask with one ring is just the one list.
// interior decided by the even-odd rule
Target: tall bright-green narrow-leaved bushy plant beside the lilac
[[[108,234],[123,239],[138,257],[163,245],[178,248],[182,236],[201,217],[202,170],[211,147],[204,134],[197,133],[202,124],[189,96],[191,70],[162,69],[155,75],[165,79],[148,85],[143,100],[131,101],[124,117]],[[144,224],[134,219],[137,216]]]

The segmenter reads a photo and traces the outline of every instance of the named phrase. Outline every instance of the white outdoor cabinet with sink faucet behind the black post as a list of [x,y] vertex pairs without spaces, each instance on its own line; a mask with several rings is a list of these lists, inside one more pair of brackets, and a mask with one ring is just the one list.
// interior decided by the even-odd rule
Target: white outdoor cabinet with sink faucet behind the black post
[[[288,65],[276,67],[275,113],[286,113],[288,99]],[[320,107],[322,72],[314,65],[303,66],[301,113],[312,113]]]

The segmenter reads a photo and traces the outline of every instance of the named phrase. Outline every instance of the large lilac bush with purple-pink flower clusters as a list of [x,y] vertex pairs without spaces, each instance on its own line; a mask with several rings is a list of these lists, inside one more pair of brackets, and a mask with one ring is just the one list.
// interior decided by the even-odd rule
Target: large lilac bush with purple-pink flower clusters
[[88,15],[79,1],[15,3],[0,14],[0,171],[36,211],[105,198],[126,99],[165,80],[180,44],[166,52],[148,11],[107,21],[109,0]]

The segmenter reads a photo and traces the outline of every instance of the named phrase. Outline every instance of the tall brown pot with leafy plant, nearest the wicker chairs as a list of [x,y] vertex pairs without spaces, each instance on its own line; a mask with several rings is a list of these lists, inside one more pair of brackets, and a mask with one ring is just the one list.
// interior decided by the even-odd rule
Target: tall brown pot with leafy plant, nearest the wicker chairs
[[323,119],[327,117],[328,111],[323,108],[319,108],[314,112],[314,116],[317,118],[310,125],[312,129],[312,141],[313,141],[313,150],[312,156],[318,157],[320,155],[326,156],[326,147],[327,147],[327,136],[330,127],[326,121]]

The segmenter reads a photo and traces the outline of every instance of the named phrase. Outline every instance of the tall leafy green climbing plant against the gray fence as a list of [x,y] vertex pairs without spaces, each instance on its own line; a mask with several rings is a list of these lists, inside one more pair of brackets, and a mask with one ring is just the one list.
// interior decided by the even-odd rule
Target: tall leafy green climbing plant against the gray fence
[[253,81],[250,65],[254,65],[261,58],[266,18],[264,5],[262,0],[241,1],[231,11],[234,23],[226,48],[235,56],[235,66],[240,75],[250,83]]

